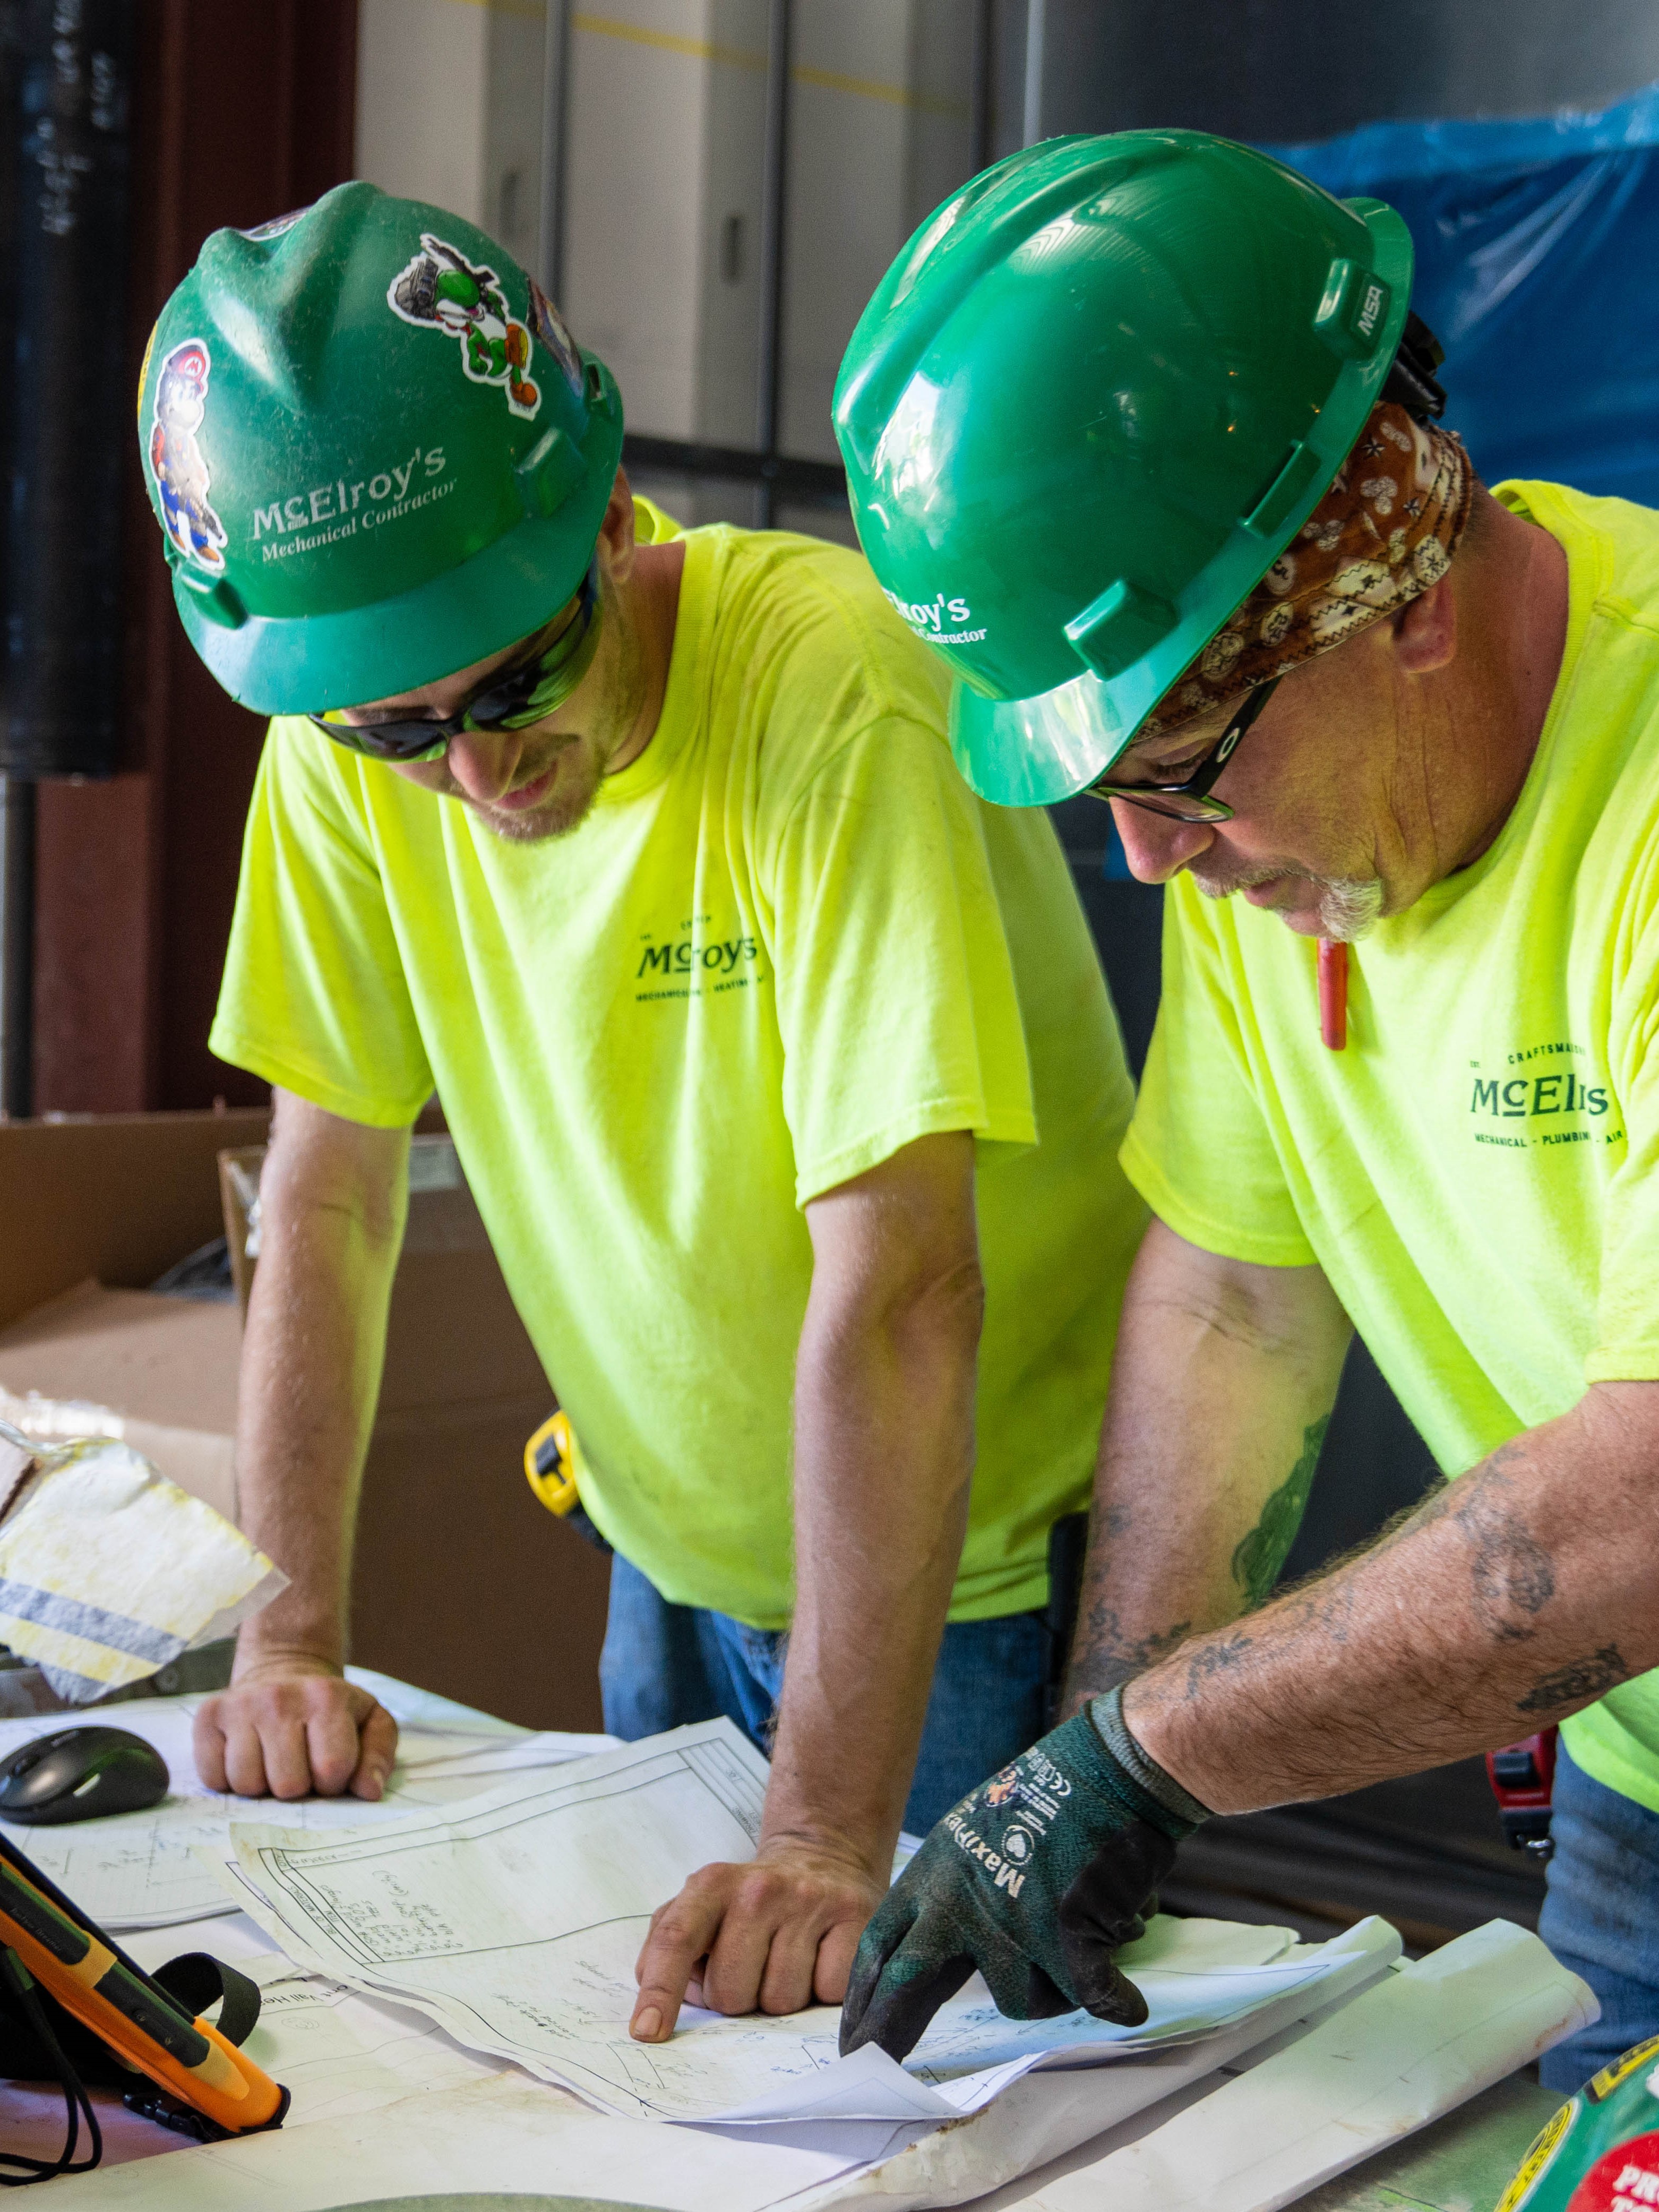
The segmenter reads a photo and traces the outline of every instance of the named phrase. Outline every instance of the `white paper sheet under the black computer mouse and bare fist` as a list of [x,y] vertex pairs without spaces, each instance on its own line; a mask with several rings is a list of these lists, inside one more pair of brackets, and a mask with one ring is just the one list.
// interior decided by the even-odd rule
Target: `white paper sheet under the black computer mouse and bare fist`
[[[0,1759],[60,1728],[108,1725],[144,1736],[168,1763],[168,1794],[150,1812],[75,1820],[66,1827],[4,1823],[11,1843],[100,1927],[173,1927],[234,1909],[201,1854],[223,1858],[232,1818],[254,1807],[274,1809],[274,1801],[223,1796],[204,1785],[190,1750],[190,1728],[201,1703],[201,1697],[144,1697],[95,1712],[0,1721]],[[491,1774],[584,1759],[595,1741],[611,1739],[518,1732],[491,1743],[480,1732],[407,1728],[378,1803],[352,1796],[296,1798],[281,1805],[281,1818],[285,1827],[305,1832],[400,1820],[418,1807],[476,1794],[478,1783]]]

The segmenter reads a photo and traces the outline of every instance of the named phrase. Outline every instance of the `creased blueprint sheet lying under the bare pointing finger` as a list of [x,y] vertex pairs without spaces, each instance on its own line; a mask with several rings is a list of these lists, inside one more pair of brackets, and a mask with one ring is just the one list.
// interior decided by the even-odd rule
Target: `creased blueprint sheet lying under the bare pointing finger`
[[[686,2117],[768,2073],[836,2055],[836,2013],[646,2048],[628,2033],[633,1962],[657,1905],[710,1860],[754,1856],[765,1761],[730,1723],[675,1730],[451,1814],[330,1843],[234,1827],[239,1867],[292,1958],[414,2000],[473,2048],[611,2110]],[[699,2015],[692,2015],[692,2022]],[[701,2015],[712,2024],[714,2015]]]

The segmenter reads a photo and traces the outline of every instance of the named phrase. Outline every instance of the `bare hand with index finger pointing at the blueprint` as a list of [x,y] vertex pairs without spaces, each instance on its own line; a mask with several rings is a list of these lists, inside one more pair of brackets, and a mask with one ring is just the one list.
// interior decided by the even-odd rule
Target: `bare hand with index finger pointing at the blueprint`
[[628,2033],[661,2044],[690,1995],[714,2013],[838,2004],[885,1882],[823,1845],[761,1845],[748,1865],[701,1867],[650,1916]]

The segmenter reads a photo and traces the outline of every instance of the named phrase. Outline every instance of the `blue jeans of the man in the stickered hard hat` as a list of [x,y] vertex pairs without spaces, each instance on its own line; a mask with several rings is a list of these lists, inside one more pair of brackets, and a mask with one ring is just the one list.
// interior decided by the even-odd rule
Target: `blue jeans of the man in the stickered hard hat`
[[[726,1613],[670,1606],[624,1557],[611,1562],[599,1655],[604,1725],[633,1743],[726,1714],[772,1750],[787,1637]],[[945,1628],[905,1827],[925,1836],[958,1798],[1044,1730],[1048,1624],[1042,1613]]]

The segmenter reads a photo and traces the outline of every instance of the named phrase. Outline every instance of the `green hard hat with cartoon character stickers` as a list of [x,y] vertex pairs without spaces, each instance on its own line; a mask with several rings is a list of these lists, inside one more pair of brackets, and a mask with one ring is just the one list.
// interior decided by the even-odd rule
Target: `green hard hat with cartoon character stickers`
[[150,334],[139,442],[190,644],[243,706],[312,714],[571,597],[622,396],[482,230],[343,184],[204,243]]

